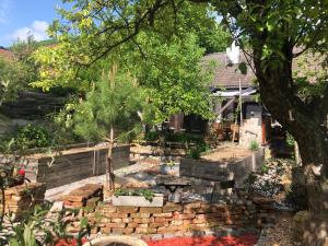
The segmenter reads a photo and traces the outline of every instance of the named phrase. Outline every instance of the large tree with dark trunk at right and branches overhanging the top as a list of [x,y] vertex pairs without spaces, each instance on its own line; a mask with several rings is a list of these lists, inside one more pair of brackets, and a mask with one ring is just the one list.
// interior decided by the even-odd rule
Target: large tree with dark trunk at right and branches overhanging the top
[[[203,10],[211,5],[248,54],[247,58],[259,82],[262,103],[300,144],[309,197],[311,223],[307,224],[311,227],[307,229],[304,243],[325,244],[324,237],[328,233],[327,74],[317,79],[323,81],[323,89],[318,93],[312,94],[309,91],[304,96],[298,93],[292,65],[295,58],[309,51],[320,56],[319,63],[327,71],[326,0],[69,2],[74,8],[61,10],[67,22],[55,22],[51,31],[58,39],[71,44],[69,50],[77,57],[75,62],[81,65],[93,63],[109,51],[117,50],[124,43],[133,42],[142,30],[161,33],[167,39],[172,33],[184,35],[186,27],[208,20],[209,14]],[[186,12],[186,9],[190,11]],[[180,22],[185,16],[181,13],[189,14],[191,24]],[[308,85],[309,81],[306,80],[306,83]]]

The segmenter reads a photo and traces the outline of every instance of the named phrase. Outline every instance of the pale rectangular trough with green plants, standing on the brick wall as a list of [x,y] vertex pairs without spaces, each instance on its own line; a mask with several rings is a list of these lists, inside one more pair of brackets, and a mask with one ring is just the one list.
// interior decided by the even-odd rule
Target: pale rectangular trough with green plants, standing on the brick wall
[[164,195],[149,189],[118,188],[112,197],[114,206],[163,207]]

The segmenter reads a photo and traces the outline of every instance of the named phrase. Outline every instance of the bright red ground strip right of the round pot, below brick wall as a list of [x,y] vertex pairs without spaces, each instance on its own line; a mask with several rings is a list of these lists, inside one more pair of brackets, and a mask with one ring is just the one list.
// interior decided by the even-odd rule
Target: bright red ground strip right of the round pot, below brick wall
[[176,237],[147,243],[149,246],[253,246],[257,243],[257,236]]

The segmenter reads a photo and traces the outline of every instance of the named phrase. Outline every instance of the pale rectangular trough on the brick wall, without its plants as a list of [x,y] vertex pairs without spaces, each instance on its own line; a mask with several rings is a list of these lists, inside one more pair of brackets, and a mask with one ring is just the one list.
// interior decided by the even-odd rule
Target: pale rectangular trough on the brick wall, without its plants
[[118,196],[112,197],[113,206],[132,206],[132,207],[153,207],[160,208],[164,206],[164,195],[155,194],[153,200],[150,202],[143,196]]

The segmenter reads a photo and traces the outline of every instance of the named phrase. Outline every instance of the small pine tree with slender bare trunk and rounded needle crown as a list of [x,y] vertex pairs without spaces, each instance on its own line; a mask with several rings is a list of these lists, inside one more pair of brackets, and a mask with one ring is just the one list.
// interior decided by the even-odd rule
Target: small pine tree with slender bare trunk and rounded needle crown
[[[136,79],[118,73],[117,67],[113,66],[86,95],[86,99],[77,107],[74,131],[87,140],[109,142],[106,164],[106,188],[109,192],[114,190],[114,142],[119,137],[127,137],[140,129],[140,113],[144,112],[145,105],[143,91]],[[120,132],[115,132],[118,138],[114,138],[114,128]]]

